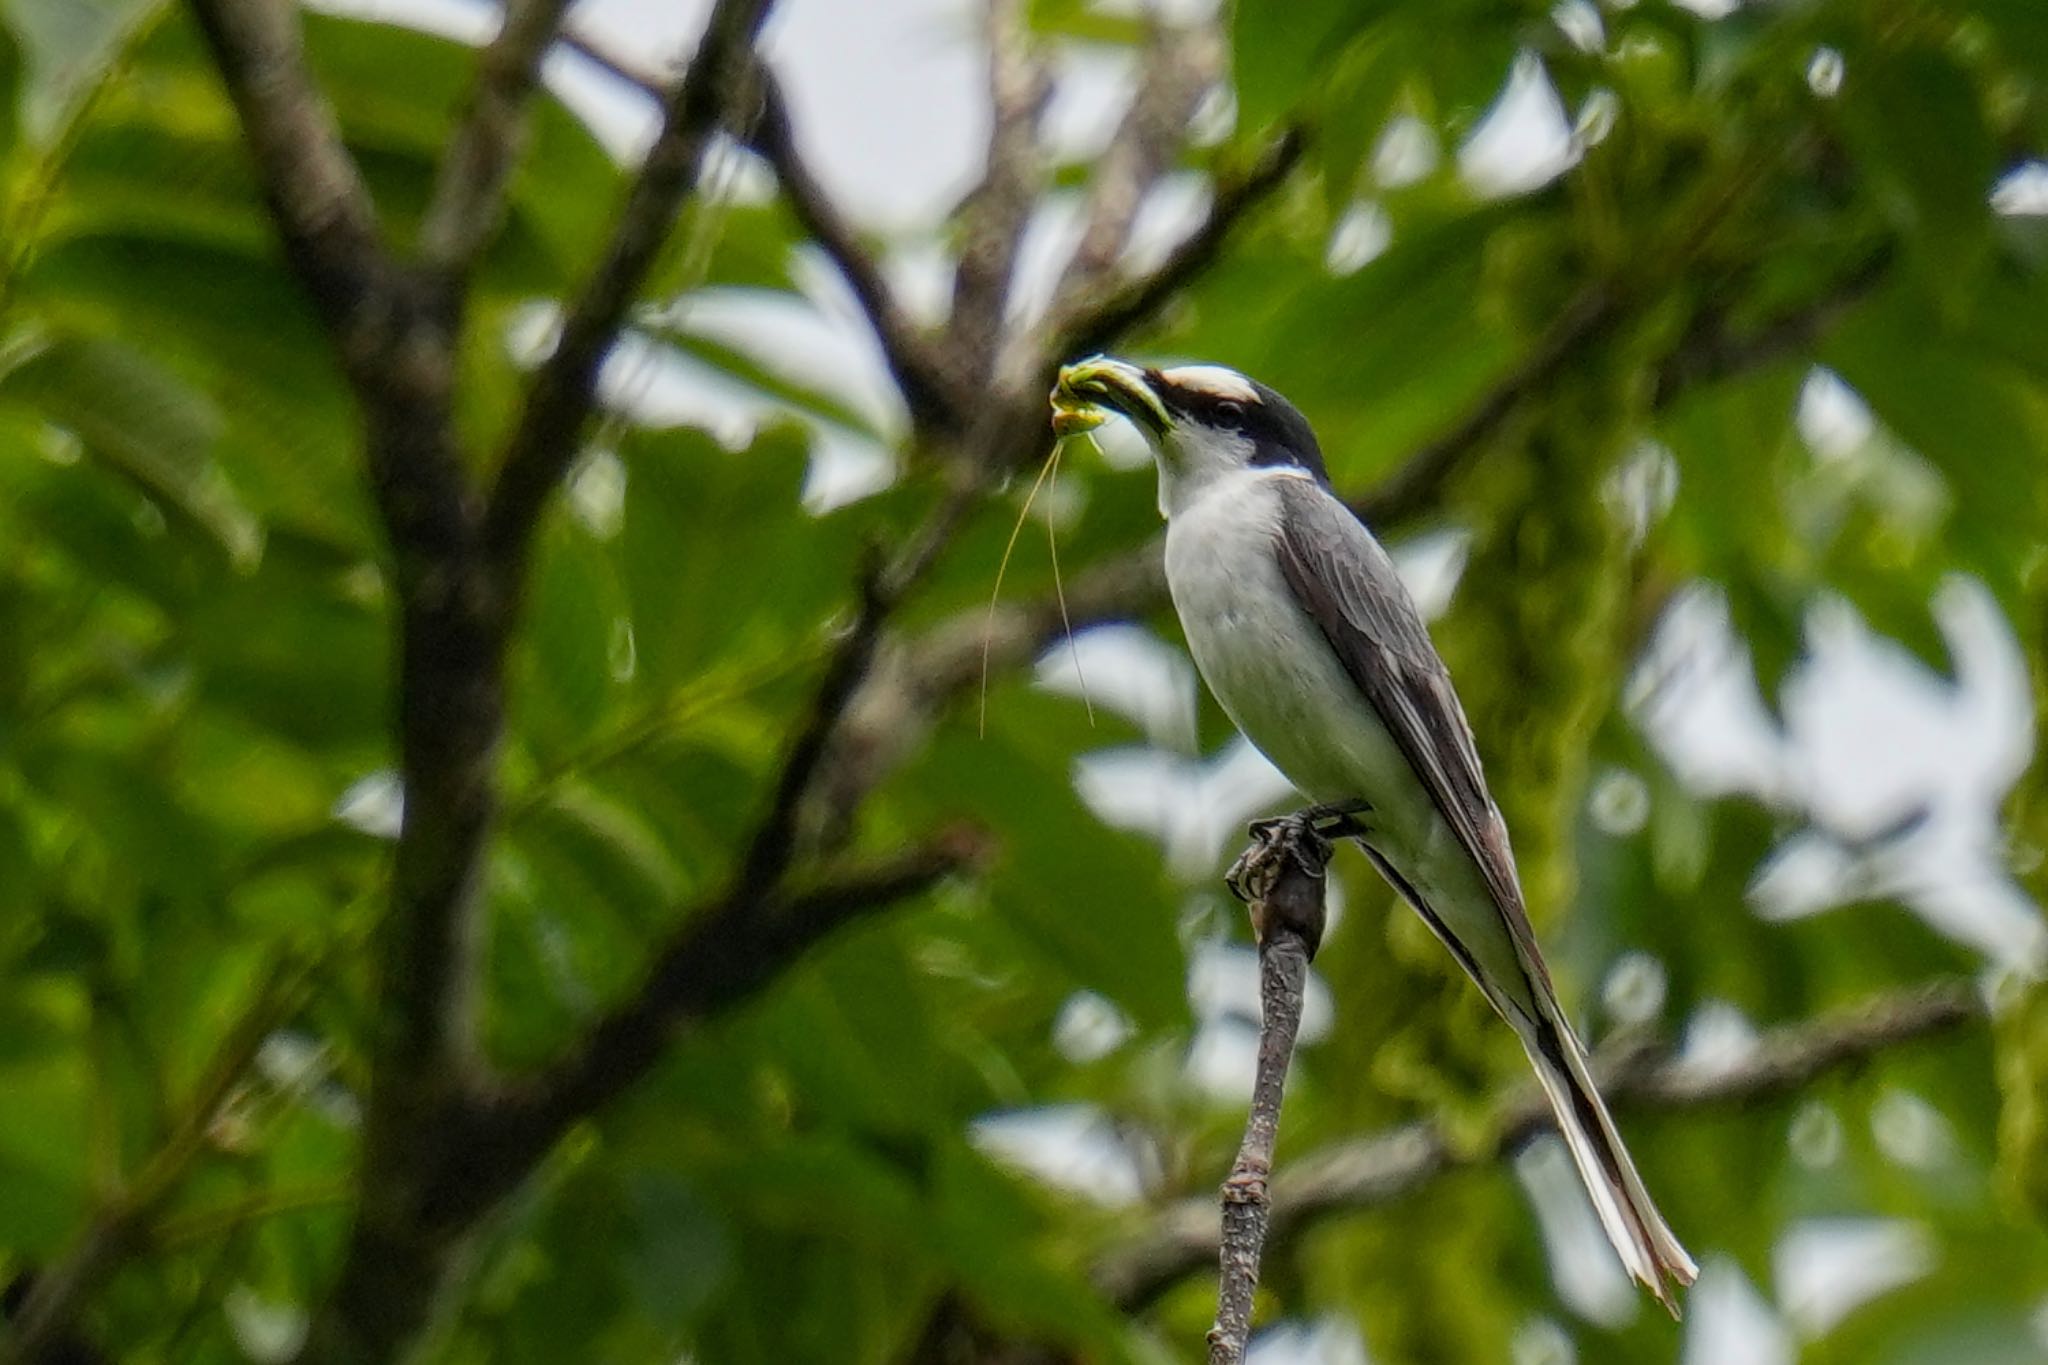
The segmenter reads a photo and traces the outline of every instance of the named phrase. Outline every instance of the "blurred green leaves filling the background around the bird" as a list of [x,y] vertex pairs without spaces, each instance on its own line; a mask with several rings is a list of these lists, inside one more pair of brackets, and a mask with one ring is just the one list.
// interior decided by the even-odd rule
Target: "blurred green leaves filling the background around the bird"
[[[1749,878],[1796,812],[1686,792],[1622,696],[1663,608],[1702,579],[1765,698],[1823,593],[1946,669],[1929,598],[1958,571],[1991,589],[2042,677],[2048,219],[1999,217],[1989,194],[2048,149],[2048,8],[1573,8],[1599,25],[1591,47],[1520,0],[1241,0],[1233,137],[1303,121],[1311,166],[1135,344],[1288,393],[1356,491],[1489,395],[1513,397],[1432,510],[1470,536],[1440,641],[1593,1033],[1626,952],[1663,964],[1663,1027],[1708,1001],[1796,1021],[1976,970],[1896,907],[1751,915]],[[391,796],[375,780],[391,763],[383,548],[352,405],[182,10],[8,0],[0,20],[0,1273],[63,1257],[178,1134],[223,1048],[268,1038],[82,1322],[113,1359],[233,1361],[279,1318],[289,1340],[319,1300],[352,1197]],[[1047,43],[1135,39],[1073,2],[1036,6],[1034,25]],[[317,14],[307,37],[410,239],[469,51]],[[1567,174],[1485,199],[1454,149],[1518,53],[1544,61],[1569,111],[1604,113]],[[1839,90],[1817,88],[1823,53]],[[1440,149],[1399,184],[1374,170],[1391,121]],[[580,278],[618,186],[598,141],[543,102],[469,313],[475,436],[516,409],[502,338]],[[1360,203],[1391,244],[1335,278],[1331,233]],[[694,213],[668,291],[795,295],[803,235],[780,207]],[[647,338],[862,424],[772,358],[659,325]],[[1821,460],[1794,424],[1817,362],[1878,420],[1847,460]],[[1632,530],[1612,489],[1647,448],[1675,497]],[[862,546],[901,540],[940,495],[938,473],[905,460],[897,487],[813,516],[807,463],[799,426],[727,450],[610,422],[580,479],[623,483],[618,505],[571,497],[545,532],[489,864],[485,1038],[506,1068],[553,1056],[635,980],[676,907],[721,884]],[[1075,465],[1069,571],[1155,530],[1149,473]],[[985,602],[1014,510],[995,497],[975,514],[909,628]],[[1010,585],[1042,593],[1049,571],[1024,557]],[[1077,702],[1014,675],[993,684],[985,735],[961,710],[911,745],[862,837],[971,819],[999,864],[678,1040],[489,1222],[428,1359],[936,1359],[920,1342],[956,1318],[1077,1359],[1186,1359],[1204,1279],[1126,1318],[1087,1267],[1227,1160],[1237,1103],[1182,1068],[1186,974],[1190,950],[1243,929],[1210,876],[1176,880],[1075,794],[1077,757],[1143,735],[1108,712],[1090,729]],[[1225,733],[1210,710],[1202,733]],[[1612,769],[1651,794],[1634,833],[1587,817]],[[2023,786],[2013,833],[2036,860],[2044,810]],[[1520,1076],[1419,925],[1362,866],[1346,882],[1319,964],[1335,1023],[1300,1058],[1282,1162],[1417,1113],[1477,1132]],[[1079,990],[1128,1023],[1081,1060],[1055,1042]],[[1929,1230],[1929,1269],[1802,1340],[1802,1359],[2040,1359],[2040,1019],[2034,995],[1997,1056],[1989,1036],[1946,1042],[1800,1105],[1640,1117],[1630,1136],[1694,1248],[1765,1291],[1792,1220]],[[1896,1093],[1946,1121],[1939,1162],[1874,1146],[1872,1113]],[[1096,1105],[1143,1154],[1139,1205],[1057,1193],[971,1140],[977,1117],[1053,1103]],[[1796,1119],[1845,1134],[1839,1156],[1802,1160]],[[1507,1359],[1542,1318],[1585,1363],[1677,1351],[1653,1314],[1604,1324],[1561,1306],[1528,1201],[1497,1169],[1325,1222],[1276,1246],[1268,1279],[1274,1312],[1348,1314],[1376,1361]]]

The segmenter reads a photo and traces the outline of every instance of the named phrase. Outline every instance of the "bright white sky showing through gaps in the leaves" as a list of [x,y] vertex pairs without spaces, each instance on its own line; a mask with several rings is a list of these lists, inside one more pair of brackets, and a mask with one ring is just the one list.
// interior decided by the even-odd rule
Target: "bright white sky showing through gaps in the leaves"
[[[492,27],[492,6],[483,0],[322,4],[469,39]],[[1206,8],[1200,0],[1192,4]],[[707,0],[584,0],[575,23],[637,65],[674,70],[707,8]],[[784,76],[797,137],[819,180],[850,217],[899,246],[891,268],[913,307],[924,301],[936,309],[942,297],[944,260],[934,229],[979,174],[987,100],[977,8],[975,0],[782,0],[766,35]],[[1714,18],[1733,12],[1737,0],[1692,0],[1692,8]],[[1556,18],[1571,41],[1604,43],[1599,10],[1587,0],[1567,0]],[[1083,153],[1100,145],[1120,113],[1124,72],[1126,63],[1114,53],[1071,53],[1063,61],[1063,84],[1049,117],[1059,149]],[[643,96],[567,53],[551,59],[549,78],[621,156],[631,158],[645,145],[653,111]],[[1839,84],[1839,57],[1817,53],[1815,90],[1829,94],[1829,82]],[[1497,108],[1456,149],[1460,174],[1481,192],[1526,192],[1548,182],[1612,123],[1612,108],[1565,108],[1534,57],[1518,59],[1501,80]],[[1438,160],[1440,149],[1417,125],[1382,143],[1378,172],[1399,182],[1425,174]],[[764,192],[766,186],[756,174],[741,190]],[[2001,182],[1993,203],[2001,213],[2048,213],[2048,168],[2017,170]],[[1135,252],[1159,250],[1198,207],[1200,186],[1176,184],[1149,215],[1147,241]],[[1061,211],[1051,209],[1034,229],[1020,289],[1026,311],[1030,295],[1059,262],[1067,227]],[[1384,221],[1362,207],[1331,246],[1333,268],[1356,268],[1382,248]],[[799,372],[840,375],[844,397],[872,413],[887,436],[901,413],[858,311],[829,268],[811,268],[803,280],[809,307],[762,309],[735,299],[698,299],[688,305],[688,323],[752,342]],[[537,319],[537,336],[541,329],[545,319]],[[629,356],[608,375],[608,387],[649,415],[702,424],[727,440],[743,440],[772,411],[758,395],[709,370],[647,356]],[[1868,409],[1825,375],[1808,385],[1800,430],[1817,458],[1864,458],[1874,440]],[[877,442],[831,430],[819,436],[813,499],[838,501],[887,479],[889,460]],[[1425,606],[1442,610],[1462,569],[1462,540],[1438,536],[1397,546],[1397,557]],[[1759,870],[1755,913],[1790,919],[1825,911],[1855,892],[1892,894],[1942,933],[1982,952],[1987,972],[2038,970],[2048,960],[2048,933],[2038,907],[2007,872],[1997,821],[1997,802],[2032,751],[2023,659],[1997,608],[1974,583],[1948,585],[1931,610],[1956,659],[1956,686],[1872,636],[1847,604],[1825,602],[1810,618],[1810,657],[1786,688],[1784,714],[1774,718],[1757,696],[1745,649],[1729,630],[1724,606],[1702,589],[1667,620],[1632,686],[1630,706],[1690,786],[1753,796],[1796,829]],[[1176,645],[1128,626],[1085,636],[1079,653],[1096,702],[1128,710],[1151,735],[1151,745],[1083,759],[1077,774],[1083,796],[1104,819],[1155,835],[1190,880],[1210,878],[1247,814],[1286,804],[1286,782],[1241,743],[1214,755],[1192,751],[1198,684]],[[1047,657],[1040,681],[1073,690],[1065,647]],[[1595,814],[1614,812],[1612,833],[1632,833],[1630,821],[1640,825],[1638,788],[1634,774],[1602,780]],[[1915,810],[1921,819],[1903,835],[1872,839]],[[1624,960],[1610,982],[1610,1001],[1624,974],[1634,999],[1649,1001],[1647,1011],[1655,1015],[1663,997],[1661,968],[1640,956]],[[1255,1019],[1249,954],[1227,943],[1198,950],[1190,990],[1204,1019],[1190,1048],[1190,1081],[1239,1103],[1249,1089],[1249,1019]],[[1341,1005],[1329,1003],[1327,993],[1317,1001],[1309,1046],[1333,1017],[1341,1019]],[[1061,1029],[1061,1044],[1075,1056],[1116,1048],[1124,1036],[1114,1007],[1092,997],[1077,997]],[[1688,1054],[1700,1064],[1741,1060],[1753,1046],[1753,1029],[1726,1005],[1690,1021],[1686,1036]],[[1915,1103],[1911,1095],[1901,1097],[1901,1111]],[[1921,1109],[1927,1107],[1921,1103]],[[1939,1124],[1939,1115],[1921,1115],[1921,1128],[1929,1121]],[[991,1150],[1055,1183],[1112,1201],[1145,1195],[1143,1154],[1087,1107],[991,1115],[977,1134]],[[1819,1156],[1827,1158],[1827,1150]],[[1935,1146],[1927,1160],[1937,1158]],[[1638,1295],[1602,1244],[1569,1162],[1538,1146],[1516,1173],[1530,1193],[1567,1308],[1591,1322],[1632,1316]],[[1733,1261],[1716,1259],[1712,1244],[1694,1250],[1706,1273],[1690,1304],[1683,1365],[1790,1361],[1800,1336],[1825,1332],[1853,1304],[1923,1273],[1937,1254],[1911,1224],[1800,1224],[1780,1246],[1778,1283],[1759,1289]],[[1362,1365],[1366,1351],[1354,1324],[1323,1318],[1268,1334],[1255,1359],[1260,1365]],[[1546,1318],[1532,1320],[1518,1338],[1516,1359],[1530,1365],[1569,1361],[1569,1332]]]

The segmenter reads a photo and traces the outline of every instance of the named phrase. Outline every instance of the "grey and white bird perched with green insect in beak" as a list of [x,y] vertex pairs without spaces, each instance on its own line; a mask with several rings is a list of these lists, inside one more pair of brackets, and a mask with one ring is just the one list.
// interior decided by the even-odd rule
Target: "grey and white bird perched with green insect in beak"
[[1231,722],[1358,843],[1513,1027],[1628,1273],[1679,1314],[1698,1267],[1608,1115],[1530,927],[1473,726],[1393,559],[1337,497],[1309,420],[1219,364],[1065,364],[1053,430],[1135,426],[1159,469],[1165,581]]

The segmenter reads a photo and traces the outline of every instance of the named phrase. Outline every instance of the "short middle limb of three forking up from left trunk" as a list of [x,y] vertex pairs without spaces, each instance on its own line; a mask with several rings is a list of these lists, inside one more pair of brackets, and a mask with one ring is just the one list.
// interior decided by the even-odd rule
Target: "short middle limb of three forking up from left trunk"
[[420,258],[444,280],[475,264],[504,213],[506,184],[526,137],[526,104],[573,0],[508,0],[498,37],[477,57],[463,121],[434,176],[434,196],[420,223]]

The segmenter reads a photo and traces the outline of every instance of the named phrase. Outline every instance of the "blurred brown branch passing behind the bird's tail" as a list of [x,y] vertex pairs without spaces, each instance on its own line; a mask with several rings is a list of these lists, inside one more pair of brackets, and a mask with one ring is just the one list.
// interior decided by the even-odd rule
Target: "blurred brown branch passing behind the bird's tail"
[[[1733,1066],[1704,1068],[1669,1048],[1630,1048],[1595,1058],[1595,1072],[1616,1109],[1743,1107],[1796,1095],[1825,1074],[1985,1017],[1974,984],[1944,980],[1772,1029]],[[1444,1128],[1419,1119],[1309,1152],[1274,1181],[1274,1236],[1298,1236],[1333,1214],[1391,1203],[1448,1171],[1511,1156],[1548,1124],[1542,1099],[1522,1091],[1501,1105],[1493,1136],[1475,1146],[1458,1146]],[[1094,1279],[1104,1295],[1137,1310],[1206,1265],[1217,1248],[1214,1205],[1182,1199],[1157,1216],[1151,1232],[1100,1261]]]

